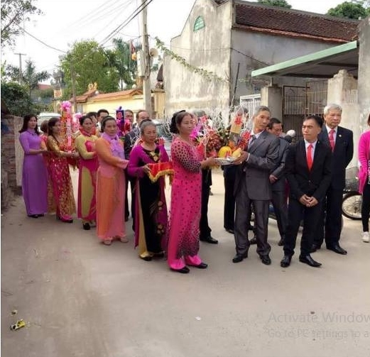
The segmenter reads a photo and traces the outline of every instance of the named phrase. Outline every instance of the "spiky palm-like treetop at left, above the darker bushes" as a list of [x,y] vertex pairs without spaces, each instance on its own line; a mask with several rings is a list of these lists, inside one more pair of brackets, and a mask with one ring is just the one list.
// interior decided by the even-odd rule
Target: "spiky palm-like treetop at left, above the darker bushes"
[[16,82],[21,78],[21,82],[26,85],[28,95],[31,96],[33,90],[38,89],[38,83],[43,82],[50,77],[47,71],[36,72],[36,65],[31,60],[26,60],[26,68],[19,74],[19,68],[13,65],[6,66],[6,77]]

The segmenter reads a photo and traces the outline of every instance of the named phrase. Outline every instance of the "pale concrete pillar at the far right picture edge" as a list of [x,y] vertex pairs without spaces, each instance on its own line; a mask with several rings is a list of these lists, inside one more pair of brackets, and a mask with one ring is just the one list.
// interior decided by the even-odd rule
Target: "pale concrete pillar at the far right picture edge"
[[370,114],[370,16],[359,24],[359,132],[366,131]]

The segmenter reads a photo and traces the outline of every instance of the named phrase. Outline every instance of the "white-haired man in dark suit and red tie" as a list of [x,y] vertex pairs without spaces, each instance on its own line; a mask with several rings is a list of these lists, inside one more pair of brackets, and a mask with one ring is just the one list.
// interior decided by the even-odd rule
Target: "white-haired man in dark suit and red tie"
[[325,237],[327,249],[345,255],[347,251],[339,246],[339,238],[342,232],[342,198],[346,167],[353,157],[353,133],[339,126],[342,119],[342,107],[337,104],[325,106],[324,119],[325,125],[319,134],[319,140],[332,148],[332,180],[326,192],[312,252],[321,247]]

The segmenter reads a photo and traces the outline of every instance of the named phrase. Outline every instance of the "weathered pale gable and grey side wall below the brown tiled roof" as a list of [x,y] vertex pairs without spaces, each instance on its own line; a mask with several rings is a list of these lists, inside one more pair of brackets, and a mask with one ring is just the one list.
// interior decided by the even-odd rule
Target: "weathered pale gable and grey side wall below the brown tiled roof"
[[[170,48],[190,65],[226,77],[229,83],[209,82],[176,60],[165,57],[163,79],[168,116],[178,109],[189,108],[214,111],[217,107],[224,111],[230,104],[238,104],[241,95],[254,94],[251,70],[334,46],[322,41],[232,30],[232,5],[233,1],[219,6],[210,0],[195,1],[182,33],[171,40]],[[205,28],[194,32],[198,16],[205,19]],[[277,83],[283,84],[284,80],[278,79]],[[257,80],[261,81],[263,79]],[[266,84],[268,82],[263,83]],[[304,82],[291,79],[290,84],[304,85]]]

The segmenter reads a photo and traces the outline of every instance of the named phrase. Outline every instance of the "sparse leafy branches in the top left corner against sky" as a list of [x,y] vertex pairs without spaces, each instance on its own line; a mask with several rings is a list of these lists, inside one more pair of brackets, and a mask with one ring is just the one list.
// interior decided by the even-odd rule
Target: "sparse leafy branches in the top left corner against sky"
[[30,20],[32,14],[42,12],[33,5],[34,0],[1,1],[1,47],[13,45],[23,30],[20,26]]

